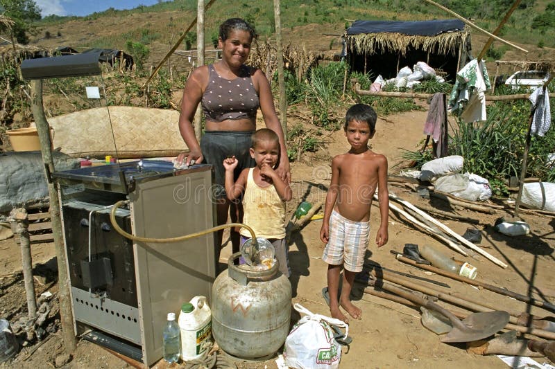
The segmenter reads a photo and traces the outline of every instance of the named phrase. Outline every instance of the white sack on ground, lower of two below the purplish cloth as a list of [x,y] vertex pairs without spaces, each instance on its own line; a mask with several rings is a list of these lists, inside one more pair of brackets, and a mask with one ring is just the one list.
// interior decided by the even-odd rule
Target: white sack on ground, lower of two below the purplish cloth
[[434,181],[434,188],[470,201],[485,201],[492,195],[490,183],[487,179],[468,172],[440,177]]

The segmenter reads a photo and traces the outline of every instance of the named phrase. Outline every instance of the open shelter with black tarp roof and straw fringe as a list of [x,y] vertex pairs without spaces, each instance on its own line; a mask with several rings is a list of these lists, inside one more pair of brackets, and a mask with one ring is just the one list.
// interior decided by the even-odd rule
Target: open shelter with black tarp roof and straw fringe
[[470,29],[459,19],[355,21],[343,38],[351,70],[384,78],[426,62],[453,80],[470,55]]

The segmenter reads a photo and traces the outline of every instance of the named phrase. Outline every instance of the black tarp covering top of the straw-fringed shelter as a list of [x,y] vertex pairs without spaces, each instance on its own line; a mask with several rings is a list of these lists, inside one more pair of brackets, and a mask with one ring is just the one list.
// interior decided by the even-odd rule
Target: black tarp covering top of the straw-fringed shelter
[[462,31],[464,22],[459,19],[436,19],[432,21],[355,21],[347,29],[347,35],[360,33],[400,33],[409,36],[436,36],[441,33]]

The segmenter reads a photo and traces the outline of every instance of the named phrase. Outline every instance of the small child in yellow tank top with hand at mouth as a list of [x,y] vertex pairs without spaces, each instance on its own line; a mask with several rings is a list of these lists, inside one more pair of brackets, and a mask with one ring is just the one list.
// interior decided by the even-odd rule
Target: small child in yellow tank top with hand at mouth
[[[285,242],[285,201],[291,200],[293,191],[275,172],[280,154],[280,139],[271,129],[257,130],[252,136],[250,156],[256,161],[255,168],[245,169],[233,181],[237,167],[235,156],[225,159],[225,193],[231,201],[243,194],[244,224],[253,228],[257,237],[266,238],[273,244],[280,271],[289,278],[291,271]],[[250,238],[250,232],[241,228],[241,244]]]

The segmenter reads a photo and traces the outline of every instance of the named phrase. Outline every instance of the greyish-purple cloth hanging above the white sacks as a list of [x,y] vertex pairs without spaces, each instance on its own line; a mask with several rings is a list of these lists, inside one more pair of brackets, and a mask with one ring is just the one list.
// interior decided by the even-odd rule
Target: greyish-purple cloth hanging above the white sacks
[[428,116],[424,124],[424,134],[432,136],[436,158],[443,158],[447,155],[447,109],[444,93],[438,92],[432,96]]

